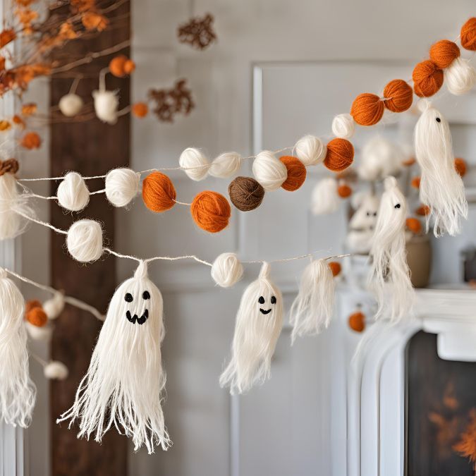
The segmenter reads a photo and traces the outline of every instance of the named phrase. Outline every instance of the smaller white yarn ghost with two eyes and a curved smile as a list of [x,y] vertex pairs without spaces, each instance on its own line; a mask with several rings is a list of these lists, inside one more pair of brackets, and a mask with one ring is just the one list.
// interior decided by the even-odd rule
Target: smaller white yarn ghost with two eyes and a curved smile
[[244,393],[269,378],[271,358],[283,325],[283,297],[269,280],[269,264],[250,283],[236,314],[231,361],[221,374],[220,386]]

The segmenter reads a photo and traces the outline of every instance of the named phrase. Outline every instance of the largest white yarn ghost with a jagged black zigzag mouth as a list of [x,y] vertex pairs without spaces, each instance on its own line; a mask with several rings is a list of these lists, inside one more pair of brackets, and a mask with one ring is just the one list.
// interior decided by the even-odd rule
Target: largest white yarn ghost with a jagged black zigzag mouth
[[143,444],[149,454],[159,444],[166,450],[162,315],[161,293],[140,262],[134,277],[116,289],[75,402],[57,422],[71,420],[71,427],[79,420],[78,438],[93,435],[95,441],[114,426],[133,439],[135,451]]

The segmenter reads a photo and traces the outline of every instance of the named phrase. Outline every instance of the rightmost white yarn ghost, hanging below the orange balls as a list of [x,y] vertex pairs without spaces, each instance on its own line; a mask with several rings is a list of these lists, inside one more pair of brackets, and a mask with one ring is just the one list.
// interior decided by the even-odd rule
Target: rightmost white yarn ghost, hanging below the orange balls
[[434,235],[460,233],[461,217],[468,219],[463,181],[455,169],[448,121],[427,100],[419,103],[422,115],[415,126],[415,155],[422,169],[420,201],[434,219]]

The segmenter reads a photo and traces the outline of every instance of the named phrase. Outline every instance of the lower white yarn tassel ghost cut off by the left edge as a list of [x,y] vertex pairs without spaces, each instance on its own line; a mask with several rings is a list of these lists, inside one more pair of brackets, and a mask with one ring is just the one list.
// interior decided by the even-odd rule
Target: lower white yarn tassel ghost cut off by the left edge
[[0,269],[0,417],[23,428],[30,425],[36,398],[28,366],[24,312],[23,295]]

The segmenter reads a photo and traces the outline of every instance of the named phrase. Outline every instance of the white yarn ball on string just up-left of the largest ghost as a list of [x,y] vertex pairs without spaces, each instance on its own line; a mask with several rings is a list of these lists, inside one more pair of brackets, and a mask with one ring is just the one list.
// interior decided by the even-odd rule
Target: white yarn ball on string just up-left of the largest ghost
[[102,229],[94,220],[78,220],[71,225],[66,237],[70,255],[82,263],[99,260],[102,255]]

